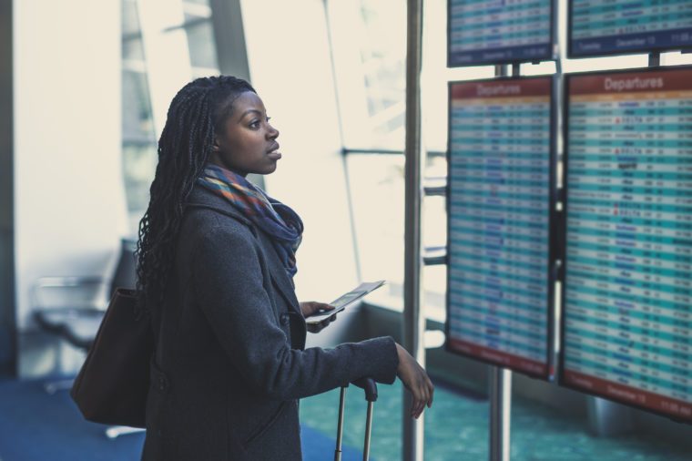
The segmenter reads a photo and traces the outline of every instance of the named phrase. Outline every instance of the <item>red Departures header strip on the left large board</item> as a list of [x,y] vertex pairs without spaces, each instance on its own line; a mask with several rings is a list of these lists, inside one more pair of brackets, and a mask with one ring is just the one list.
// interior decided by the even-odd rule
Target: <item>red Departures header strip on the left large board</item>
[[452,84],[451,91],[453,99],[550,96],[552,81],[551,77],[523,77],[458,82]]

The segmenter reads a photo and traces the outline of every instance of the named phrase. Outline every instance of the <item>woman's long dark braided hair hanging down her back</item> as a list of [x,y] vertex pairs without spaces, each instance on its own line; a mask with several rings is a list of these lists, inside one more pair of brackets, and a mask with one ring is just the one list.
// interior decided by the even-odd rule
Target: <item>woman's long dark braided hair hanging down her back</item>
[[158,140],[158,165],[147,212],[139,221],[137,293],[140,307],[160,304],[175,253],[185,201],[204,171],[216,133],[242,93],[255,89],[236,77],[202,77],[182,87],[168,108]]

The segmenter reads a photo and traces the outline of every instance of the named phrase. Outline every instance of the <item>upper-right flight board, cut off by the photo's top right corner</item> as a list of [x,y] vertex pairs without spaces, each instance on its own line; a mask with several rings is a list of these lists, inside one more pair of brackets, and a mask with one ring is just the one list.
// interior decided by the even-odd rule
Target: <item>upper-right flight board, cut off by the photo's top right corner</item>
[[690,0],[572,0],[569,57],[605,56],[692,46]]

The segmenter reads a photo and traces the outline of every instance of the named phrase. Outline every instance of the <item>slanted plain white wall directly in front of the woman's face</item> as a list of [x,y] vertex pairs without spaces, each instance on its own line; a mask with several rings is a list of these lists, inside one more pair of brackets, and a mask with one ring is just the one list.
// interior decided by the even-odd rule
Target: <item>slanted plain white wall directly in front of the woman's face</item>
[[241,6],[251,83],[280,130],[283,158],[266,188],[305,223],[296,291],[301,301],[330,302],[357,278],[323,2]]

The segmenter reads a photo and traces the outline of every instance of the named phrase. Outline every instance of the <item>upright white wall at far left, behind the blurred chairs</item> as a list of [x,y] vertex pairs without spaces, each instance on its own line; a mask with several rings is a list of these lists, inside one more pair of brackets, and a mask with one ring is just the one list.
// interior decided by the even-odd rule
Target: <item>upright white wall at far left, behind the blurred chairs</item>
[[39,276],[109,273],[127,231],[120,1],[15,0],[16,320]]

